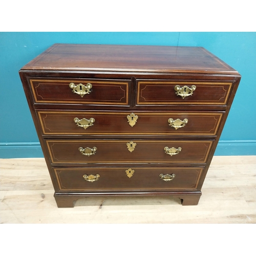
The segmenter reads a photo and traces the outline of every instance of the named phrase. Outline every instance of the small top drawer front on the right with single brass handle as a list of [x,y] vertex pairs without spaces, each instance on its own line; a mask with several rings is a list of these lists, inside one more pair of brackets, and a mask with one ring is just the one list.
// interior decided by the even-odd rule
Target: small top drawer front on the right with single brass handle
[[137,87],[138,105],[226,105],[232,82],[138,80]]

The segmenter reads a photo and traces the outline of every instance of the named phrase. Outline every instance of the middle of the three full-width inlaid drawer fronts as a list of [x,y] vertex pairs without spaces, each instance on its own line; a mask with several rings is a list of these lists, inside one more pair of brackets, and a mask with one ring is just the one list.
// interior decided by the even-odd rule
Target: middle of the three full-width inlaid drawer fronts
[[52,163],[206,163],[212,140],[46,140]]

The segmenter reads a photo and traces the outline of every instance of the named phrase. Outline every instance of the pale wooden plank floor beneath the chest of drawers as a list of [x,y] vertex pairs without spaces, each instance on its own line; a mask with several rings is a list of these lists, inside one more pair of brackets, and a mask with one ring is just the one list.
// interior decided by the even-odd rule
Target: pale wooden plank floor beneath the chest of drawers
[[256,156],[214,157],[197,206],[108,197],[57,208],[43,158],[0,159],[0,182],[0,223],[256,223]]

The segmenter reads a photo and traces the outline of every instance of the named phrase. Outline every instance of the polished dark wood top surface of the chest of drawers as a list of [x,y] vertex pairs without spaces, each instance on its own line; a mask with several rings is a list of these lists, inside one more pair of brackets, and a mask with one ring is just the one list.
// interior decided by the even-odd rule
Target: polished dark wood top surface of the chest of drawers
[[202,47],[56,44],[23,69],[237,73]]

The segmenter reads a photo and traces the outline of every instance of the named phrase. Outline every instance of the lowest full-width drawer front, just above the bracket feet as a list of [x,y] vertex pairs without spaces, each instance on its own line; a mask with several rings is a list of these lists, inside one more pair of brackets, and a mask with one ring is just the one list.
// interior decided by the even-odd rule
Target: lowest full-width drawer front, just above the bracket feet
[[[53,168],[59,190],[195,190],[202,167]],[[162,175],[161,175],[162,174]],[[169,176],[166,176],[168,174]],[[86,175],[86,176],[84,176]],[[161,176],[160,176],[161,175]],[[162,177],[162,178],[161,178]],[[168,179],[169,178],[169,179]],[[166,179],[166,180],[165,180]],[[90,181],[89,181],[90,180]]]

